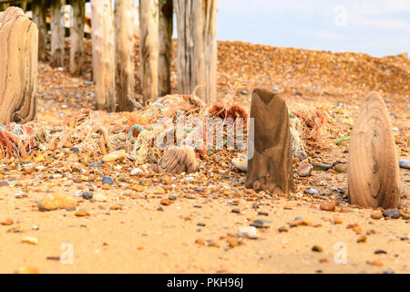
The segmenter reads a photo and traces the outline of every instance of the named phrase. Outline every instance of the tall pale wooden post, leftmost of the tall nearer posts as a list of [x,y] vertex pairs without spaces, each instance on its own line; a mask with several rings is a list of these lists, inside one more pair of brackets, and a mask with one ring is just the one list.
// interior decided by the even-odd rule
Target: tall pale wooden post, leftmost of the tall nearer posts
[[114,16],[110,0],[91,0],[91,22],[96,108],[115,111],[117,108],[116,54]]

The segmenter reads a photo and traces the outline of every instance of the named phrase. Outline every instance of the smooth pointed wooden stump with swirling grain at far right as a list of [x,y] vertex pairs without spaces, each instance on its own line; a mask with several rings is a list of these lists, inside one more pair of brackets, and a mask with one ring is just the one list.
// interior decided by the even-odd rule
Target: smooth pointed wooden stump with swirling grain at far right
[[352,130],[347,171],[349,202],[362,206],[400,207],[395,136],[377,92],[364,100]]

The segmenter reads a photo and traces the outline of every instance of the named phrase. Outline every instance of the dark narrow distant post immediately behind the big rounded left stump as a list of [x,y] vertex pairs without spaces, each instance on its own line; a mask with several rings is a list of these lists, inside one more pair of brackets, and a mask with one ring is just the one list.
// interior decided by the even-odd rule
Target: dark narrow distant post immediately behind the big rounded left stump
[[47,49],[46,0],[34,0],[31,6],[33,21],[38,29],[38,60],[45,62]]

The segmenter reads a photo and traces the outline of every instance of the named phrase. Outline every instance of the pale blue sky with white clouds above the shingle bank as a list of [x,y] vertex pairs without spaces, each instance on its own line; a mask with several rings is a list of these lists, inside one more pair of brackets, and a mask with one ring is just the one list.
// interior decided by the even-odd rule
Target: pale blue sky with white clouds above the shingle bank
[[220,0],[218,38],[396,55],[410,52],[410,0]]

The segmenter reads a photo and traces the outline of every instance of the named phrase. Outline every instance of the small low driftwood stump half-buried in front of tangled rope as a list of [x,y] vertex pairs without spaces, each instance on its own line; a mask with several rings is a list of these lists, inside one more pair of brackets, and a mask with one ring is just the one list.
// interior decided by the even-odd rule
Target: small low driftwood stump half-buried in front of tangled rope
[[183,149],[169,149],[166,151],[158,164],[153,166],[152,171],[179,174],[181,172],[197,172],[198,169],[195,151],[192,147],[186,146]]

